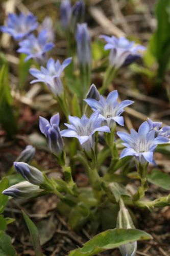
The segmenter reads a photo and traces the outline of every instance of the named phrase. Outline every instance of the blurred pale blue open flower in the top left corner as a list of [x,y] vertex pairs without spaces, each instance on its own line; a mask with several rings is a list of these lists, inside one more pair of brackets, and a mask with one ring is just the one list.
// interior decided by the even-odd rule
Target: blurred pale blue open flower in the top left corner
[[9,33],[15,40],[21,40],[29,35],[38,27],[37,18],[29,13],[27,15],[20,13],[9,13],[7,18],[7,26],[2,26],[1,31]]

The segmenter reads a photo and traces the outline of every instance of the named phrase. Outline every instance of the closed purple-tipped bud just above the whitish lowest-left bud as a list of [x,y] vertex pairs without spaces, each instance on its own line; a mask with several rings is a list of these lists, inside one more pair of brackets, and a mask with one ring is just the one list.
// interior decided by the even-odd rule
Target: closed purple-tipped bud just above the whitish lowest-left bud
[[14,162],[14,167],[19,174],[34,185],[44,183],[44,176],[37,168],[23,162]]

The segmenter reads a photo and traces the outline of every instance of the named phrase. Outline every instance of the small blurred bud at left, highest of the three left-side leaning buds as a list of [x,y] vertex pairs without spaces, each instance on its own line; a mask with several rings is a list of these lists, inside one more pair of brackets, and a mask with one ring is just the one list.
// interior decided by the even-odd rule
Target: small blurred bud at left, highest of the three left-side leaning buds
[[28,145],[25,150],[23,150],[20,155],[17,157],[17,162],[30,163],[35,156],[35,147]]

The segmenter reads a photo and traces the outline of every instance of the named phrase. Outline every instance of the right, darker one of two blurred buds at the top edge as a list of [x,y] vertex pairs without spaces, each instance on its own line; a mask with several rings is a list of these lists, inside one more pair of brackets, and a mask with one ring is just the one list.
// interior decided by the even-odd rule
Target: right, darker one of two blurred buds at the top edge
[[84,1],[77,1],[76,4],[72,7],[72,15],[70,20],[70,29],[72,33],[76,30],[76,25],[82,23],[84,20],[85,14],[85,5]]

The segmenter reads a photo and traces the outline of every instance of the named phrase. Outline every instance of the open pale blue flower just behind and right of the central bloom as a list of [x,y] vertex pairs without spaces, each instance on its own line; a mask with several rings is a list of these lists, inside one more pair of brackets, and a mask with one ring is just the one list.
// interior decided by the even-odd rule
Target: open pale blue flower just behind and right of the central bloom
[[104,124],[107,124],[110,128],[112,128],[114,127],[115,123],[124,125],[124,118],[120,115],[124,112],[124,108],[126,106],[134,103],[132,100],[124,100],[118,103],[117,98],[117,91],[112,91],[109,93],[107,98],[100,95],[99,100],[85,99],[85,101],[93,111],[99,111],[100,117],[103,119]]

